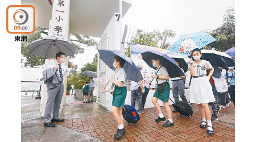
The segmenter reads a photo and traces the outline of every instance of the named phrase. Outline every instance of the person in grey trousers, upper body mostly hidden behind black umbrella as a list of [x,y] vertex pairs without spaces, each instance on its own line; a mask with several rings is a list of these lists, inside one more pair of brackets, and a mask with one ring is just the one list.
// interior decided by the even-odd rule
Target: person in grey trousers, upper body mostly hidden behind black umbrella
[[[177,65],[180,65],[179,62],[177,62]],[[181,68],[182,72],[184,73],[184,70]],[[185,76],[175,77],[172,78],[172,95],[174,96],[175,102],[179,101],[179,95],[183,102],[188,103],[187,98],[185,97]],[[177,112],[177,110],[173,110],[172,112]]]

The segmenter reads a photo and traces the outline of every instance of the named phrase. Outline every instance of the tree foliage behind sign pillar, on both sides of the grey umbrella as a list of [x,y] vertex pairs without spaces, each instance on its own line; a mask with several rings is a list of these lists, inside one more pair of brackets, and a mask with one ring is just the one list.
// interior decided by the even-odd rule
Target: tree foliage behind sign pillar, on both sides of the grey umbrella
[[[37,55],[31,55],[30,48],[28,47],[28,44],[36,40],[43,39],[42,37],[43,34],[48,35],[48,30],[46,28],[39,28],[39,27],[37,27],[35,32],[32,34],[24,34],[27,36],[27,41],[22,41],[21,52],[22,52],[22,55],[26,57],[26,60],[24,61],[25,67],[33,68],[34,66],[40,66],[44,64],[45,59]],[[75,51],[75,55],[79,53],[84,53],[84,48],[81,47],[80,43],[84,43],[88,46],[97,45],[97,42],[94,41],[93,39],[90,39],[90,36],[79,35],[79,34],[72,34],[72,35],[75,36],[77,39],[76,41],[74,40],[71,41],[71,44],[77,47]],[[79,41],[80,43],[77,41]],[[69,56],[70,59],[75,58],[75,55]]]

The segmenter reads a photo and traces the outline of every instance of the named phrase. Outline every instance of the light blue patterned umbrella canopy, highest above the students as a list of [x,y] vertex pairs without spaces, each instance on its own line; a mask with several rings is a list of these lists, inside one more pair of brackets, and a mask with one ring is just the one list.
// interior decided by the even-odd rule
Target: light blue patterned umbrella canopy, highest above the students
[[[185,43],[183,43],[183,41]],[[192,50],[193,48],[204,47],[213,41],[216,41],[214,37],[210,36],[206,32],[199,31],[192,34],[180,35],[179,39],[167,49],[174,52],[179,52],[179,48],[182,46],[184,49],[181,49],[181,51]]]

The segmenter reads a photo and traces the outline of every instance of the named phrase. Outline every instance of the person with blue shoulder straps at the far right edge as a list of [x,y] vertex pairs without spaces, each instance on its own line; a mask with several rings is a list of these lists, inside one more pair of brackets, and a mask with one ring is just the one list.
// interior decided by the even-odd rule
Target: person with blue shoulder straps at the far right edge
[[235,70],[234,66],[229,67],[225,74],[226,82],[228,82],[229,95],[235,105]]

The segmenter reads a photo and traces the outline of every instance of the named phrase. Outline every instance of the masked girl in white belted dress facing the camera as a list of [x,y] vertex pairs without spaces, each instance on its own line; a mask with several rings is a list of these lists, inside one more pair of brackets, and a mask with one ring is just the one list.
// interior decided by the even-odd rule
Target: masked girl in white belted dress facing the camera
[[[213,74],[213,67],[209,61],[202,60],[202,52],[199,48],[195,48],[191,52],[191,60],[189,61],[188,70],[190,70],[192,79],[190,86],[190,102],[198,104],[202,123],[200,128],[207,125],[207,133],[213,134],[212,121],[210,119],[209,102],[214,102],[215,98],[210,85],[210,77]],[[210,70],[207,76],[207,68]],[[205,119],[206,116],[206,119]]]

